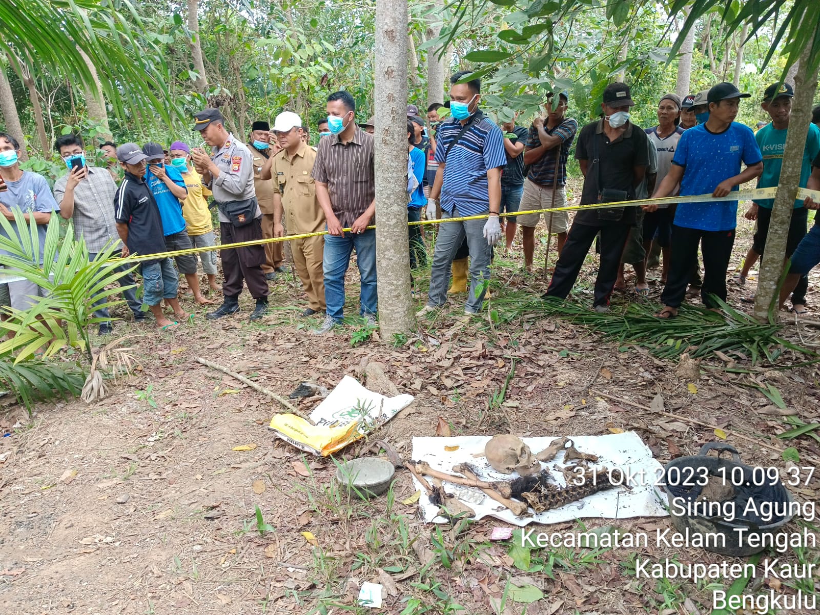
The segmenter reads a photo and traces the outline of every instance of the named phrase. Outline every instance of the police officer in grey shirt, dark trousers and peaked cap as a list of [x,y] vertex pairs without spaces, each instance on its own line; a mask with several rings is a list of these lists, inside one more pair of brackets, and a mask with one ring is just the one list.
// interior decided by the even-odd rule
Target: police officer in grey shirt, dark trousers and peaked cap
[[[194,115],[194,130],[201,132],[205,143],[213,148],[211,156],[203,148],[191,148],[191,157],[219,208],[221,244],[262,239],[262,211],[253,189],[253,157],[248,147],[225,130],[225,120],[218,109],[205,109]],[[238,312],[244,280],[256,299],[250,320],[259,320],[267,312],[268,288],[262,272],[265,248],[255,245],[221,250],[221,258],[225,301],[205,317],[216,320]]]

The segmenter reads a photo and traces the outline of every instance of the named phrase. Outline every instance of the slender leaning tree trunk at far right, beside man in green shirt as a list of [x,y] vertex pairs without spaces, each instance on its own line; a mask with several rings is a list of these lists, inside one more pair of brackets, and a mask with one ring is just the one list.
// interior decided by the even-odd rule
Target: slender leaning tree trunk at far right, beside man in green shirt
[[786,148],[783,151],[780,181],[772,207],[772,221],[769,223],[766,236],[766,252],[763,253],[763,262],[760,265],[758,289],[754,296],[753,314],[761,322],[768,320],[770,307],[777,309],[775,301],[786,259],[786,237],[789,234],[791,213],[800,183],[800,168],[812,117],[812,101],[818,87],[817,69],[812,75],[806,71],[810,49],[809,43],[800,54],[800,66],[795,75],[795,98],[792,99],[789,130],[786,131]]

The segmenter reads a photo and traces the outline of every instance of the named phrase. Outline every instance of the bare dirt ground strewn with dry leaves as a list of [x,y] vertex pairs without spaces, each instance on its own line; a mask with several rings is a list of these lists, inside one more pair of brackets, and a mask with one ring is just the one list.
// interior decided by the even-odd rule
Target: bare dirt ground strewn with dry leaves
[[[736,264],[750,244],[749,225],[741,229]],[[490,301],[499,302],[500,312],[508,309],[505,298],[525,300],[545,289],[546,280],[521,275],[521,258],[514,253],[497,259]],[[348,315],[358,303],[353,271]],[[579,289],[590,288],[593,275],[590,257]],[[815,277],[812,306],[820,303],[818,288]],[[654,283],[652,291],[657,300],[660,286]],[[744,306],[740,297],[746,294],[748,289],[732,288],[731,303]],[[176,331],[117,325],[116,335],[137,335],[128,344],[142,369],[113,385],[102,402],[42,403],[31,420],[20,407],[6,409],[2,426],[11,435],[0,440],[0,613],[413,615],[463,608],[669,615],[711,608],[712,591],[703,582],[638,580],[634,571],[636,557],[725,559],[703,549],[535,549],[522,565],[509,541],[489,540],[503,522],[485,519],[457,529],[423,524],[417,504],[403,503],[414,493],[407,471],[397,473],[388,496],[350,500],[332,484],[334,462],[306,456],[266,429],[272,414],[283,411],[280,405],[203,367],[198,357],[285,397],[304,380],[328,388],[346,374],[362,380],[367,362],[381,362],[401,392],[416,396],[374,435],[405,459],[412,436],[437,435],[440,418],[453,435],[635,430],[661,462],[678,449],[696,454],[705,442],[718,440],[711,428],[635,406],[648,406],[660,393],[668,412],[751,438],[728,437],[745,462],[784,470],[781,456],[765,445],[785,448],[775,435],[788,426],[753,385],[775,386],[803,421],[818,420],[816,366],[737,373],[715,359],[704,362],[699,380],[687,380],[676,375],[675,363],[645,348],[619,348],[537,312],[500,326],[486,319],[463,324],[462,297],[453,300],[451,311],[423,322],[417,339],[398,347],[370,339],[352,347],[358,325],[326,338],[308,335],[317,321],[298,317],[306,302],[290,278],[272,289],[276,309],[262,324],[247,323],[250,300],[246,294],[243,299],[243,312],[232,319],[206,321],[198,309],[194,322]],[[617,301],[635,299],[627,294]],[[419,306],[422,301],[420,294]],[[190,301],[184,304],[193,309]],[[817,331],[791,326],[787,335],[813,344]],[[299,409],[307,414],[316,403],[303,400]],[[800,465],[820,458],[808,436],[789,444],[804,459]],[[242,445],[248,450],[235,450]],[[375,454],[366,447],[354,445],[340,457]],[[792,493],[816,501],[818,487],[815,477]],[[257,526],[257,506],[271,526],[266,531]],[[668,524],[668,518],[585,522],[623,531]],[[791,531],[799,527],[790,524]],[[818,553],[792,552],[783,559],[799,557],[815,561]],[[364,581],[384,585],[381,609],[356,605]],[[758,590],[763,583],[775,587],[763,579],[750,587]],[[530,598],[512,584],[540,590],[543,598],[526,604]],[[795,585],[788,585],[778,591],[793,593]]]

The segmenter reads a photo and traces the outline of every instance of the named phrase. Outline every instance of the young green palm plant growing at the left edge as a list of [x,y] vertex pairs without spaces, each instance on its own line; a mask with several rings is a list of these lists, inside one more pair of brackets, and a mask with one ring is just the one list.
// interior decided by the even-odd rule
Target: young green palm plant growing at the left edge
[[[123,303],[113,295],[121,292],[117,281],[125,272],[117,271],[121,262],[110,260],[117,251],[113,244],[89,261],[88,248],[83,240],[74,239],[71,222],[61,239],[57,216],[48,223],[41,268],[37,225],[29,225],[18,210],[14,215],[19,233],[0,216],[0,265],[7,274],[45,289],[48,296],[29,309],[8,310],[2,327],[13,336],[0,344],[0,382],[30,410],[34,399],[55,392],[80,393],[88,368],[82,362],[56,361],[55,356],[63,348],[76,348],[89,364],[93,362],[89,329],[107,320],[93,312]],[[33,358],[40,350],[42,358]]]

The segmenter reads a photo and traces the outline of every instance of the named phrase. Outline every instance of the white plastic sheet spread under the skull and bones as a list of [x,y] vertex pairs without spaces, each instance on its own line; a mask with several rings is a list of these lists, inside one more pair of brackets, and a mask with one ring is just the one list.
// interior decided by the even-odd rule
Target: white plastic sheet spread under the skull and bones
[[[559,436],[540,438],[522,438],[533,454],[546,449],[549,443]],[[573,519],[596,517],[601,519],[626,519],[629,517],[666,517],[664,508],[667,503],[666,495],[655,486],[663,476],[663,466],[652,457],[652,451],[644,444],[634,431],[612,435],[578,435],[570,436],[576,448],[584,453],[594,453],[599,456],[596,463],[590,462],[590,467],[618,468],[629,472],[635,477],[631,490],[623,487],[614,487],[599,491],[577,502],[548,510],[538,514],[532,513],[529,517],[516,517],[511,510],[493,499],[485,496],[481,491],[472,487],[453,485],[444,481],[444,490],[456,494],[464,503],[476,511],[476,520],[481,517],[496,517],[502,521],[517,526],[526,526],[531,522],[560,523]],[[474,454],[484,453],[484,446],[490,436],[468,435],[453,438],[415,437],[412,439],[412,460],[430,464],[435,470],[453,472],[453,466],[458,463],[471,463],[476,468],[477,476],[485,481],[509,481],[517,478],[517,474],[504,475],[494,471],[484,457],[473,457]],[[444,447],[458,449],[447,451]],[[553,481],[557,485],[565,486],[560,471],[553,470],[553,466],[566,467],[563,462],[564,453],[558,453],[553,461],[542,463],[550,471]],[[429,480],[428,480],[429,481]],[[413,483],[421,490],[418,503],[428,523],[443,523],[444,517],[438,516],[439,508],[430,503],[427,494],[418,484],[415,477]],[[530,510],[532,512],[532,510]]]

